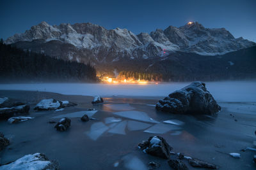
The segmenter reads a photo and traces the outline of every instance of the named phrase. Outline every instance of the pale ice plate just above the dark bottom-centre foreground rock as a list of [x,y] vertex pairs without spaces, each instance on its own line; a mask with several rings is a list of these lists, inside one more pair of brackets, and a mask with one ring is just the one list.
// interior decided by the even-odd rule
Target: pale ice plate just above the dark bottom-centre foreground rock
[[180,127],[176,125],[169,125],[169,124],[156,124],[144,132],[152,133],[152,134],[164,134],[168,131],[173,131],[173,130],[179,130]]

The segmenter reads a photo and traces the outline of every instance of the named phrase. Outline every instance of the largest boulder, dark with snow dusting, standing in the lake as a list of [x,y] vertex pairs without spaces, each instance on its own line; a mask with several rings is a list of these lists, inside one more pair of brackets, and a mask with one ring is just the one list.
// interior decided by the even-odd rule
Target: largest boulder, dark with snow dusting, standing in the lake
[[205,83],[195,81],[159,100],[156,109],[179,114],[214,115],[221,110],[221,107],[207,91]]

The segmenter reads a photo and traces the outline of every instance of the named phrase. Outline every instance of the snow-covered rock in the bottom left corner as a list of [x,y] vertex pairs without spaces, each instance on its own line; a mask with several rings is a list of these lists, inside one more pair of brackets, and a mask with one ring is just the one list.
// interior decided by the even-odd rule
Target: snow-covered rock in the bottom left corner
[[1,166],[1,170],[35,169],[35,170],[59,170],[60,166],[55,160],[49,160],[42,153],[25,155],[10,164]]

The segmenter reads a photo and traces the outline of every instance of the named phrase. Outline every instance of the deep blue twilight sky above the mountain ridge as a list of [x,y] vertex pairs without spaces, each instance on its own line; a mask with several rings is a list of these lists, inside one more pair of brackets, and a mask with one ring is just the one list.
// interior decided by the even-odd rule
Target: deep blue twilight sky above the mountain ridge
[[127,28],[135,34],[198,21],[209,28],[225,27],[236,38],[256,41],[255,9],[256,0],[0,0],[0,38],[42,21],[51,25],[92,22],[106,29]]

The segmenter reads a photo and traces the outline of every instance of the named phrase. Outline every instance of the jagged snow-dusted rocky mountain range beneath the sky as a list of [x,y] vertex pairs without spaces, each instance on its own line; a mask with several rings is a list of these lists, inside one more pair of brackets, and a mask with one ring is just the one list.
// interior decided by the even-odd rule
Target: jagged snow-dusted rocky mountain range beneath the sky
[[42,22],[4,42],[65,60],[93,64],[123,58],[148,59],[173,52],[220,55],[256,45],[234,38],[224,28],[207,29],[198,22],[138,35],[127,29],[108,30],[90,23],[57,26]]

